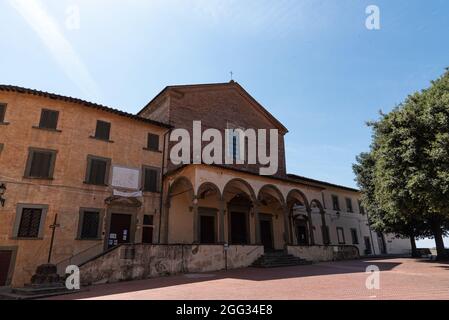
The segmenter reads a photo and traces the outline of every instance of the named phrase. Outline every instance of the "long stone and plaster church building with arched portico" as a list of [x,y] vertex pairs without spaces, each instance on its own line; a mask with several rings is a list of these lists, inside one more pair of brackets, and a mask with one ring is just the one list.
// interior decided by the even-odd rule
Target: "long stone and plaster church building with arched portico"
[[[193,133],[197,120],[203,130],[277,129],[277,172],[173,164],[170,132]],[[167,87],[137,115],[0,86],[0,287],[22,286],[47,261],[63,270],[128,243],[158,252],[232,248],[235,266],[257,258],[238,258],[252,248],[316,261],[344,246],[360,255],[407,252],[407,240],[370,230],[358,190],[287,174],[287,132],[233,81]],[[229,152],[235,160],[236,149]],[[218,268],[208,259],[200,257],[199,271]]]

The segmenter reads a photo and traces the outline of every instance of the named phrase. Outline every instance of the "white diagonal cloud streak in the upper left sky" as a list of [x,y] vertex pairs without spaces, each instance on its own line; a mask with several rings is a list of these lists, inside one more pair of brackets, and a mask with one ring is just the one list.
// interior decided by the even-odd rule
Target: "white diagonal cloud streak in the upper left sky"
[[9,0],[9,3],[41,38],[70,80],[90,99],[99,99],[99,90],[89,70],[40,0]]

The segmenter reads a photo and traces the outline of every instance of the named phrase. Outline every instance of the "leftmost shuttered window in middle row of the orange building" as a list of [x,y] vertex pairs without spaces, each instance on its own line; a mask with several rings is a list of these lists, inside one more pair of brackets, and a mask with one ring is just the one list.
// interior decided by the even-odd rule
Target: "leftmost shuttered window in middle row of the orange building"
[[26,178],[52,179],[56,161],[55,150],[30,148],[25,169]]

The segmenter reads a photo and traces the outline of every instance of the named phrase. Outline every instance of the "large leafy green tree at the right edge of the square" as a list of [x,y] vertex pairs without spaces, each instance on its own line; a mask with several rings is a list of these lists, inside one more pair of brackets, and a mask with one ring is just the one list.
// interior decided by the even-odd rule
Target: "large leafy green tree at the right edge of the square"
[[[449,221],[449,71],[369,124],[371,150],[354,166],[374,225],[431,231],[439,259]],[[368,173],[366,173],[368,172]],[[369,177],[369,181],[368,178]]]

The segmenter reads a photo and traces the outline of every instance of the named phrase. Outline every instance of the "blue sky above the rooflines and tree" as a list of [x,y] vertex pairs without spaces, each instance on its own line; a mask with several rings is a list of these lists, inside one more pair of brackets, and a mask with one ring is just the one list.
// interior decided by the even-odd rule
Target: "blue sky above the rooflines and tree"
[[[365,27],[372,4],[380,30]],[[445,0],[3,0],[0,83],[137,112],[167,85],[225,82],[232,70],[290,130],[289,172],[355,186],[365,121],[449,66],[448,9]]]

